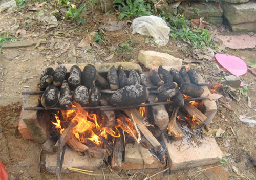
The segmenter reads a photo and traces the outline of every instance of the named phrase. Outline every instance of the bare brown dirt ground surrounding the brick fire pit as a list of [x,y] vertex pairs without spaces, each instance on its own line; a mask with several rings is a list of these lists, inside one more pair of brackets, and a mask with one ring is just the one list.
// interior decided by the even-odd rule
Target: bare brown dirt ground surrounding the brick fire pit
[[[31,10],[32,8],[36,8]],[[42,67],[55,64],[70,63],[72,46],[76,49],[76,59],[78,63],[93,62],[115,62],[137,60],[139,50],[154,50],[169,53],[178,58],[191,56],[184,44],[170,40],[166,46],[159,47],[156,44],[145,43],[146,38],[142,35],[131,35],[129,30],[130,21],[125,21],[123,29],[104,34],[105,44],[101,47],[91,46],[79,48],[79,42],[87,37],[90,32],[97,31],[100,25],[107,21],[118,20],[117,15],[104,14],[101,11],[93,11],[88,14],[87,24],[77,26],[70,20],[58,19],[58,26],[47,28],[47,25],[38,22],[36,14],[47,7],[35,7],[30,5],[30,10],[13,10],[0,14],[0,31],[7,31],[15,35],[18,39],[47,39],[51,43],[41,44],[38,47],[20,47],[3,49],[0,54],[0,161],[5,165],[10,179],[55,179],[55,175],[49,174],[44,169],[43,160],[45,154],[41,152],[41,144],[31,140],[23,139],[18,132],[18,120],[22,106],[23,96],[21,92],[31,85],[33,79],[38,78],[38,73]],[[18,30],[25,30],[26,33],[18,33]],[[23,31],[24,32],[24,31]],[[109,48],[115,48],[125,40],[133,40],[135,48],[114,55],[111,60],[104,61],[111,55]],[[73,45],[74,44],[74,45]],[[186,47],[186,46],[185,46]],[[246,60],[255,60],[256,50],[227,50],[226,54],[236,55]],[[193,56],[193,55],[192,55]],[[219,80],[227,74],[217,68],[215,60],[192,59],[189,65],[205,75],[205,81],[211,83]],[[224,97],[218,102],[218,114],[210,125],[210,128],[222,128],[226,136],[216,138],[221,150],[225,154],[227,162],[219,167],[205,171],[201,169],[218,166],[216,165],[160,173],[152,179],[256,179],[256,127],[253,124],[243,123],[238,119],[239,115],[253,116],[256,114],[255,97],[255,76],[249,71],[243,76],[244,83],[249,84],[248,96],[251,98],[251,107],[247,105],[247,98],[241,95],[239,102],[232,99],[223,89],[219,90]],[[255,163],[255,162],[254,162]],[[164,169],[164,168],[163,168]],[[140,170],[121,172],[120,177],[130,179],[144,179],[145,174],[155,174],[163,169]],[[103,167],[105,174],[109,170]],[[237,172],[236,172],[237,171]],[[102,173],[99,169],[95,173]],[[137,175],[133,177],[134,173]],[[132,177],[129,177],[129,176]],[[113,177],[112,177],[113,178]],[[62,174],[61,179],[104,179],[104,177],[88,176],[79,173]],[[108,176],[105,179],[110,179]]]

